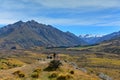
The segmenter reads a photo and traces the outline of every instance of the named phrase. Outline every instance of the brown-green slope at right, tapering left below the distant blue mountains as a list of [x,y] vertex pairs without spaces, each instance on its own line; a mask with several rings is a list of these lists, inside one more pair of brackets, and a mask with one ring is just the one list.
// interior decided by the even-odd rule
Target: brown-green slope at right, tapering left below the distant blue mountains
[[116,38],[110,41],[104,41],[98,45],[80,46],[80,47],[74,47],[74,48],[68,48],[68,49],[120,54],[120,38]]

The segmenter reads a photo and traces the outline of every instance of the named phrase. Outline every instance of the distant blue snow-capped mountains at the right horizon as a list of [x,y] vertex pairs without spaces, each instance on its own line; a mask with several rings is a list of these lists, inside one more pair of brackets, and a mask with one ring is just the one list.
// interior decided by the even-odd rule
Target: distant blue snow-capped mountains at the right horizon
[[90,35],[90,34],[80,35],[79,36],[79,38],[84,40],[85,42],[87,42],[88,45],[99,44],[101,42],[113,40],[113,39],[116,39],[118,37],[120,37],[120,31],[113,32],[111,34],[107,34],[107,35],[103,35],[103,36]]

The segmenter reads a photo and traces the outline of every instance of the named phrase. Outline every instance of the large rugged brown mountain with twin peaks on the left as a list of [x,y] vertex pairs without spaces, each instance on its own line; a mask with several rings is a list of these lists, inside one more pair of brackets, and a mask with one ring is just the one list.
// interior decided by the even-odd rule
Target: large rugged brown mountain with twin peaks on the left
[[82,45],[75,35],[34,20],[16,22],[0,28],[0,48],[60,47]]

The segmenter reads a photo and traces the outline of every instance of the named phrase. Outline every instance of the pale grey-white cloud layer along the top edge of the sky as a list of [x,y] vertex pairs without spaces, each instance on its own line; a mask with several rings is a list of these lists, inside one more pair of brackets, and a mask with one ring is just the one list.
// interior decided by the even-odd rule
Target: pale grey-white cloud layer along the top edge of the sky
[[0,0],[1,8],[24,9],[24,8],[120,8],[120,0]]

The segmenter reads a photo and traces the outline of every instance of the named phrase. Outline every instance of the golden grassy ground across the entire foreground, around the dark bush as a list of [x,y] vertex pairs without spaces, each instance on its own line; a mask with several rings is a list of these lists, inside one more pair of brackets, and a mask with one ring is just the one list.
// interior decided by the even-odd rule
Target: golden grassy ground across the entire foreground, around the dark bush
[[62,66],[56,70],[47,69],[50,60],[46,59],[48,53],[58,52],[55,49],[48,53],[41,50],[1,50],[0,80],[99,80],[100,76],[119,80],[120,55],[64,50],[59,52]]

